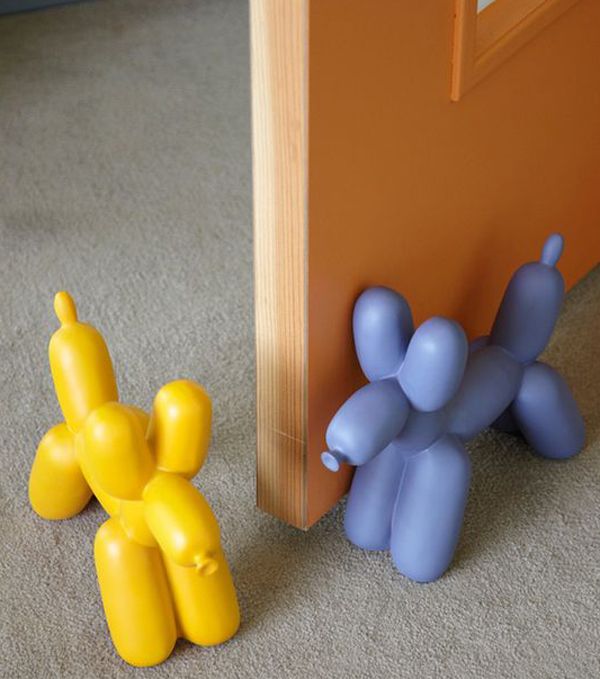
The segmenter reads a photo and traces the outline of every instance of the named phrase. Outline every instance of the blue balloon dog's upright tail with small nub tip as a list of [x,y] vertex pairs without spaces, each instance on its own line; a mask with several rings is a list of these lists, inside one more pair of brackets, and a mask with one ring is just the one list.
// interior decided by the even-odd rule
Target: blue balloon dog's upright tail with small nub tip
[[498,309],[489,344],[506,349],[520,363],[534,361],[554,330],[564,294],[555,266],[562,250],[563,237],[552,234],[539,262],[524,264],[514,273]]

